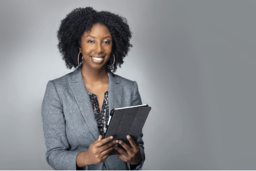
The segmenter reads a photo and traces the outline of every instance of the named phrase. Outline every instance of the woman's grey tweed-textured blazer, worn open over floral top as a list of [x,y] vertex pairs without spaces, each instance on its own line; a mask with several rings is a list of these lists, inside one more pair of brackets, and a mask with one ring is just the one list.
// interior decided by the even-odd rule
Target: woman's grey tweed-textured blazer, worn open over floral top
[[[136,81],[127,80],[107,69],[109,77],[109,112],[114,108],[142,105]],[[76,156],[98,139],[97,121],[81,67],[63,77],[50,80],[42,103],[42,120],[46,141],[46,161],[55,170],[76,170]],[[142,132],[138,138],[142,161],[134,170],[142,170],[145,153]],[[117,156],[104,161],[108,170],[131,170],[129,163]],[[101,170],[101,164],[79,168]]]

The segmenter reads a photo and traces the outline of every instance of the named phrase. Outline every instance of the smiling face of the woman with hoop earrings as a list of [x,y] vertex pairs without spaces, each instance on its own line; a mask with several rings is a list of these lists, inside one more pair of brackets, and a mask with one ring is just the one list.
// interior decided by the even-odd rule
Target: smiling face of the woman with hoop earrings
[[112,36],[108,27],[100,23],[93,24],[90,31],[82,34],[79,51],[84,57],[82,65],[86,65],[86,68],[105,68],[112,53]]

